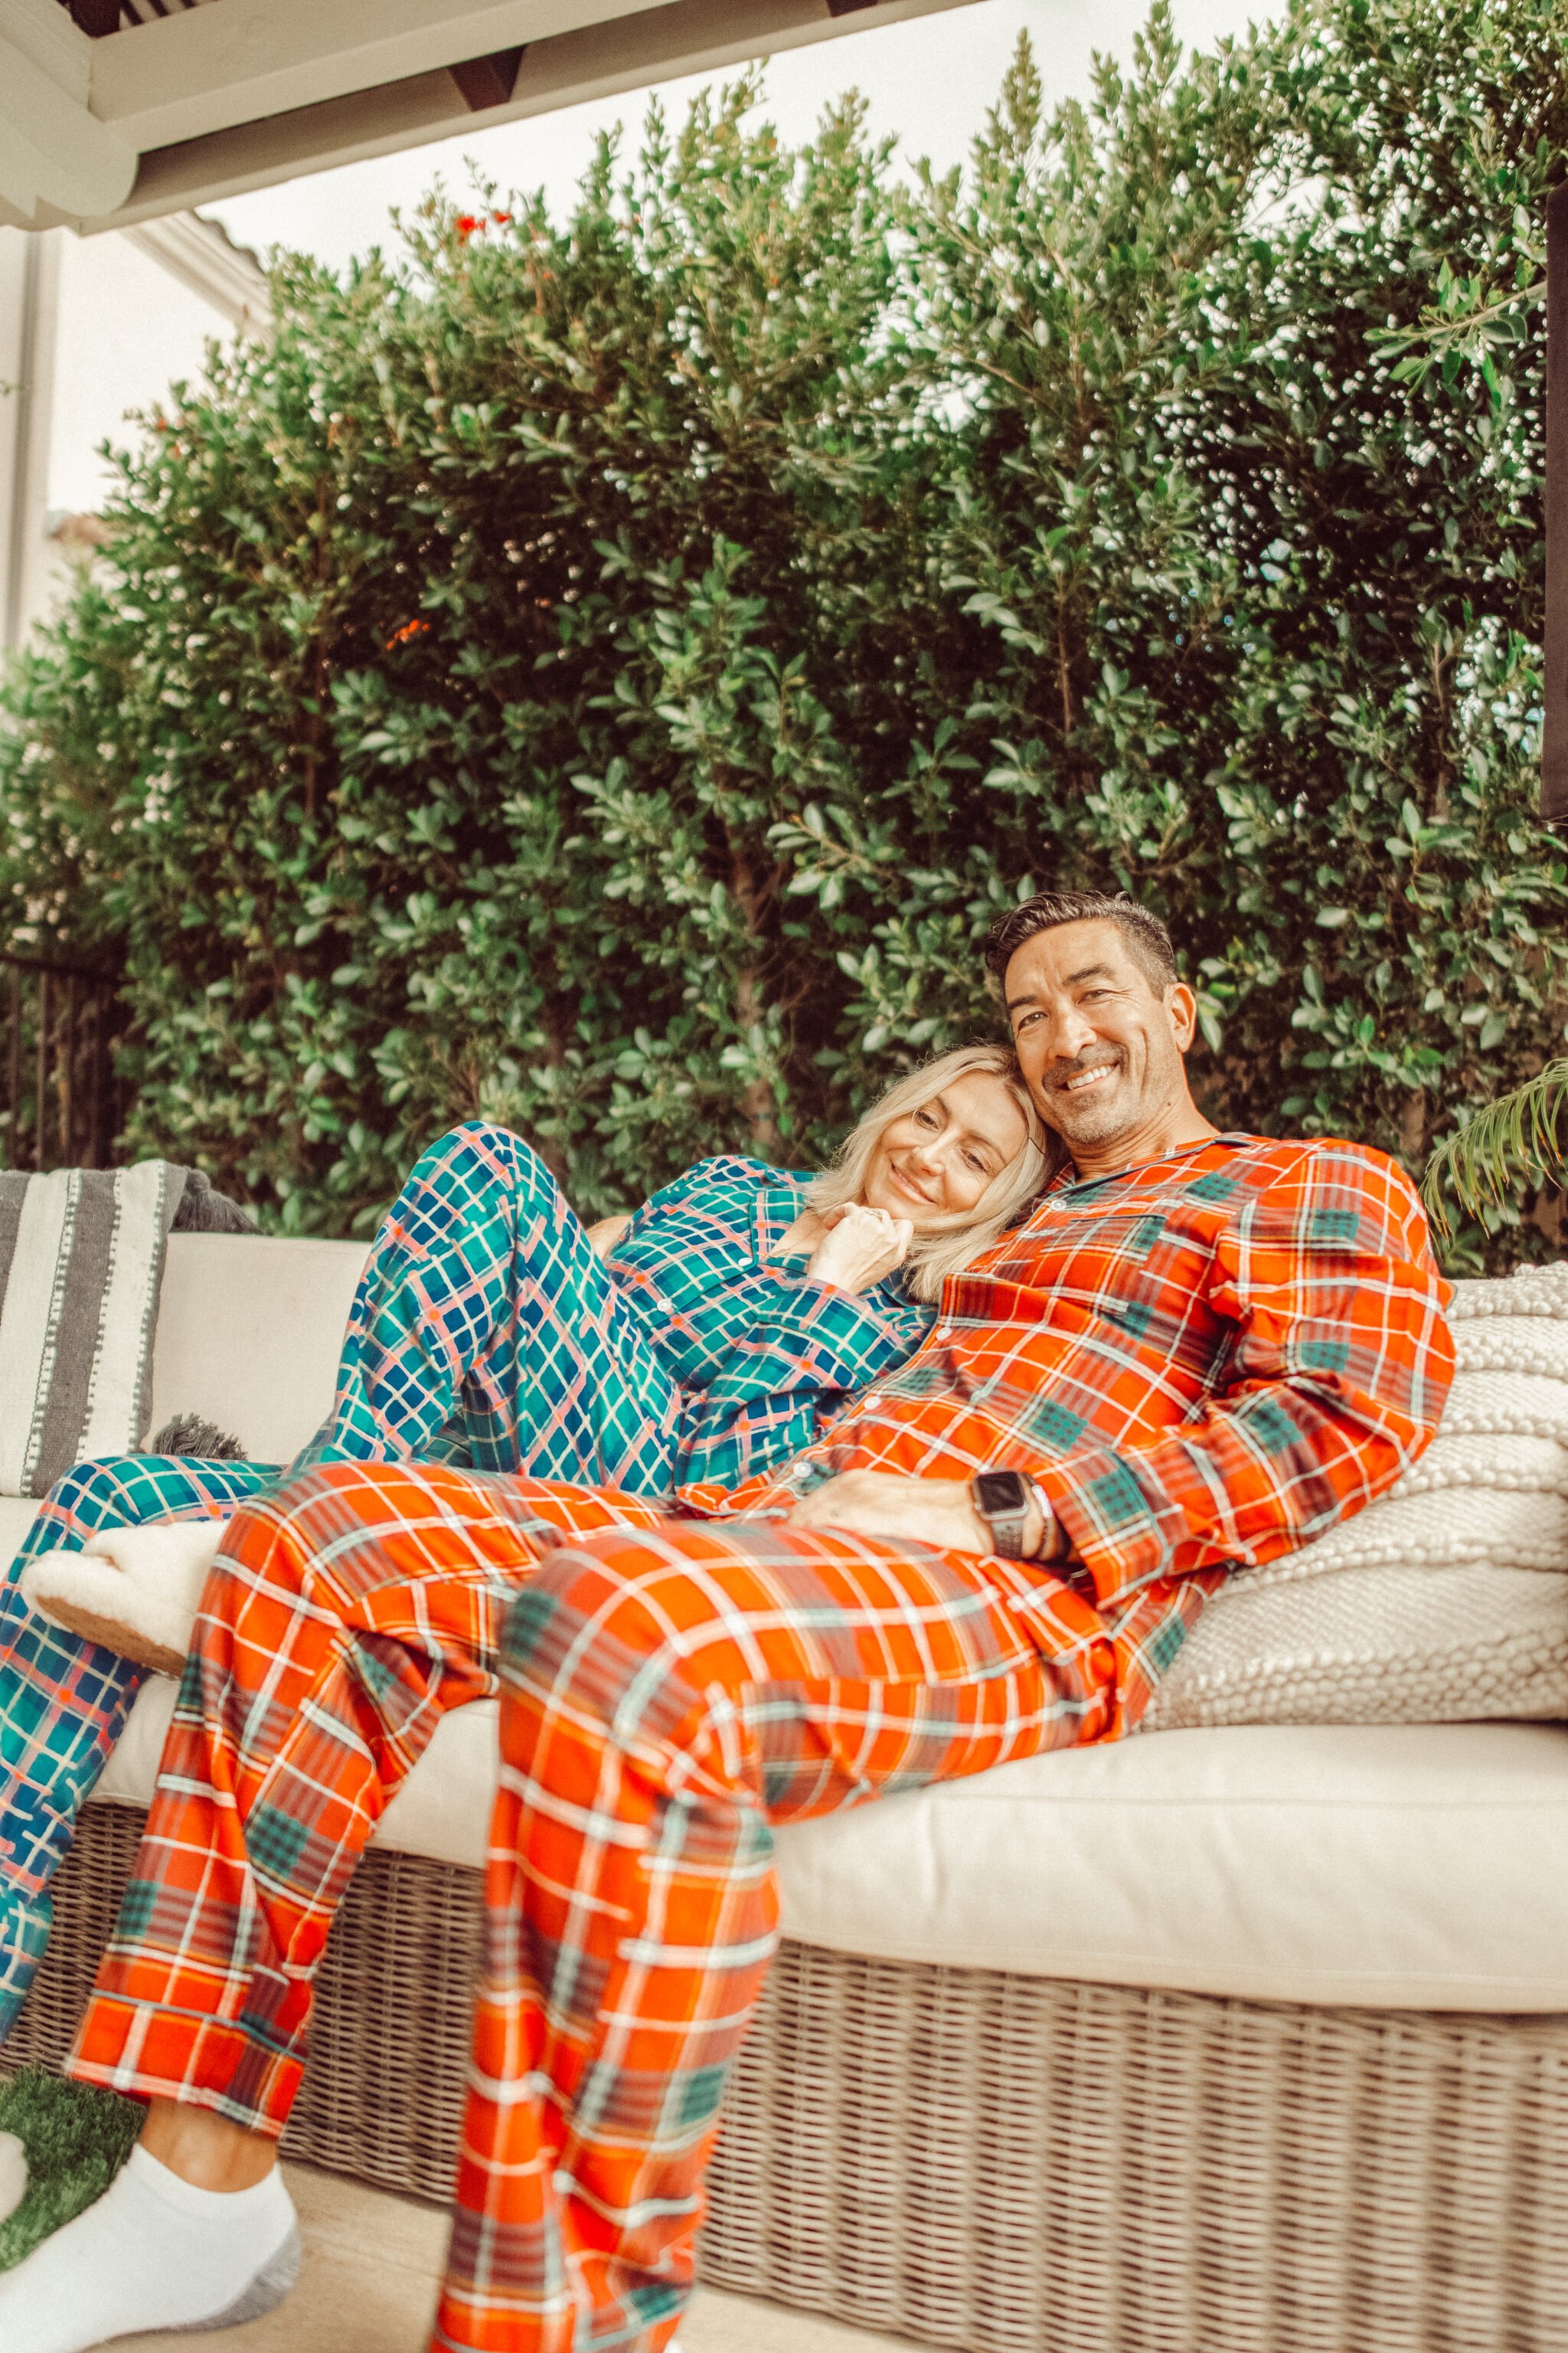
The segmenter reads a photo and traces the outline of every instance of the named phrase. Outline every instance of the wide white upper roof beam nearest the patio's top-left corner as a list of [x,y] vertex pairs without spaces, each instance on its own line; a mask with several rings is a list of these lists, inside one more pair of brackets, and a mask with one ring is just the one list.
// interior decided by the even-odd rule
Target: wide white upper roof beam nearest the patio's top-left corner
[[92,111],[141,151],[172,146],[654,5],[221,0],[92,42]]

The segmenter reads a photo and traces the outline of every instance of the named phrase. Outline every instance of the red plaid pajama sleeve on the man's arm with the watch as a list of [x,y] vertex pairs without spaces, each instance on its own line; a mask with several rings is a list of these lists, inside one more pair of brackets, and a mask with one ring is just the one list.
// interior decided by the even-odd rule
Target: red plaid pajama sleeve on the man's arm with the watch
[[1222,1240],[1208,1301],[1237,1337],[1201,1412],[1051,1461],[1013,1449],[1100,1605],[1295,1551],[1392,1487],[1436,1431],[1453,1379],[1443,1282],[1420,1202],[1382,1155],[1302,1155],[1298,1184]]

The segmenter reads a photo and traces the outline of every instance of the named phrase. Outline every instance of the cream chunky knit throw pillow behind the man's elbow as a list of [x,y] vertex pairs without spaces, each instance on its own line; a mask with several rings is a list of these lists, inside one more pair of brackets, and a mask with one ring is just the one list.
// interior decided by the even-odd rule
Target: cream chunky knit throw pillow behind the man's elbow
[[1458,1374],[1422,1459],[1237,1569],[1145,1732],[1568,1718],[1568,1264],[1458,1282],[1448,1320]]

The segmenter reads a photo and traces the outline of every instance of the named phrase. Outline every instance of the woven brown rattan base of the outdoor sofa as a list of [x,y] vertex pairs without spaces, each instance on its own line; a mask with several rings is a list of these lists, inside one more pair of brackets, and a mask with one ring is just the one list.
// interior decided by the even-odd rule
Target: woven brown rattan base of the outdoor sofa
[[[141,1817],[89,1807],[7,2061],[56,2066]],[[477,1878],[371,1854],[284,2148],[447,2198]],[[1568,2019],[1305,2009],[785,1944],[703,2278],[954,2353],[1566,2353]]]

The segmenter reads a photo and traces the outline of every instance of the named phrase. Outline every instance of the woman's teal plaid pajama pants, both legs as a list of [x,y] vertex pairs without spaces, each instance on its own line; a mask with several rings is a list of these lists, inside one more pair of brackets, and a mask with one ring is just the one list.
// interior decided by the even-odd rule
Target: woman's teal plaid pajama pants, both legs
[[[465,1464],[628,1494],[672,1482],[679,1388],[529,1146],[470,1125],[418,1160],[348,1318],[313,1461]],[[200,1412],[200,1398],[188,1400]],[[0,1586],[0,2040],[49,1937],[49,1880],[141,1671],[38,1619],[16,1579],[101,1527],[228,1513],[275,1464],[132,1454],[49,1489]]]

